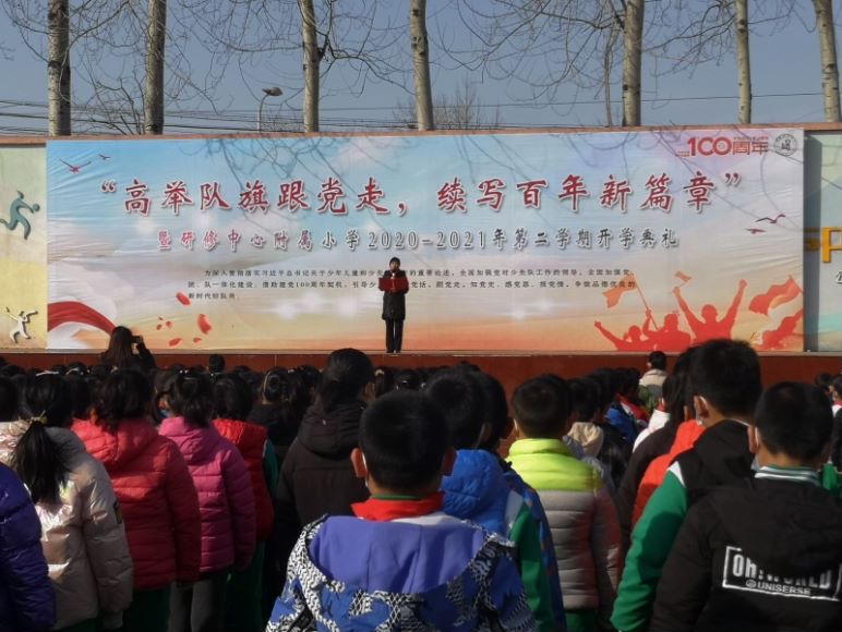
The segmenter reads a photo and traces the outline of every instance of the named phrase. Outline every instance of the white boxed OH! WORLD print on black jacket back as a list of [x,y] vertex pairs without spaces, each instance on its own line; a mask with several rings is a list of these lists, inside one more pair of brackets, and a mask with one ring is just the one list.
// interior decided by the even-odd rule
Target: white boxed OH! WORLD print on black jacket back
[[722,587],[779,597],[839,601],[842,594],[842,564],[807,578],[784,578],[760,569],[742,548],[727,546]]

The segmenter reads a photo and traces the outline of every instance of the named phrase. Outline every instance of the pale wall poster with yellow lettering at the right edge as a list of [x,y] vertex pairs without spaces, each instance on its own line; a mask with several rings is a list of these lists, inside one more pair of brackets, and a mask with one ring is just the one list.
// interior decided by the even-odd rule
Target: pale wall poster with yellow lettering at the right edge
[[842,351],[842,134],[814,132],[805,146],[805,351]]

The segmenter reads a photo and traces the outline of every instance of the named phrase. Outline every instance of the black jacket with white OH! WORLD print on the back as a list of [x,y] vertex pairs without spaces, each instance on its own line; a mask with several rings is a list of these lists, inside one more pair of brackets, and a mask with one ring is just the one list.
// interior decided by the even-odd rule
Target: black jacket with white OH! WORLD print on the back
[[658,585],[652,631],[842,630],[842,502],[746,479],[690,508]]

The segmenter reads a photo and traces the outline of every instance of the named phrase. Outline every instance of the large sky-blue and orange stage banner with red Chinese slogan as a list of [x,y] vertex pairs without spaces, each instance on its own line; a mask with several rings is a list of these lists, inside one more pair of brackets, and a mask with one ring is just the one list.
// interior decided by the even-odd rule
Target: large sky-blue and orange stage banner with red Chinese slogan
[[803,348],[801,130],[57,141],[51,349]]

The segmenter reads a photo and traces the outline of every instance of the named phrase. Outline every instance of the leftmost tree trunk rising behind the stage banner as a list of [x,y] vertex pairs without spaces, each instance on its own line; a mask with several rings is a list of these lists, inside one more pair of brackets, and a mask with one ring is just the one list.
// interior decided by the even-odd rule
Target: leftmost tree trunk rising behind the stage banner
[[70,136],[70,2],[47,5],[47,93],[50,136]]

